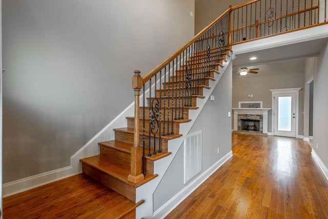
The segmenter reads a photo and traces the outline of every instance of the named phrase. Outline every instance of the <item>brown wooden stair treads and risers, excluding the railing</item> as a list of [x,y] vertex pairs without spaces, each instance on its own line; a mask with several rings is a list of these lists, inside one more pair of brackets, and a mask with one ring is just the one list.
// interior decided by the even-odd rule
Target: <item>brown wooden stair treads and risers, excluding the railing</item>
[[[198,74],[195,74],[193,77],[193,81],[197,82],[197,87],[192,87],[192,89],[197,89],[198,93],[191,95],[190,98],[186,98],[186,101],[190,103],[190,106],[183,107],[183,118],[179,120],[173,120],[173,121],[162,121],[161,126],[161,132],[165,132],[165,127],[168,127],[170,125],[170,122],[173,123],[173,133],[166,136],[161,136],[160,142],[161,142],[161,152],[152,154],[151,156],[145,156],[145,178],[137,183],[131,182],[128,180],[128,175],[130,174],[131,169],[131,149],[134,144],[134,117],[127,117],[127,124],[128,127],[124,128],[115,128],[115,140],[112,141],[106,141],[98,143],[100,147],[100,154],[96,156],[91,156],[87,158],[83,158],[80,160],[82,163],[82,169],[85,174],[88,176],[94,178],[94,180],[101,182],[105,186],[111,188],[112,190],[118,192],[121,195],[126,196],[129,198],[129,200],[133,202],[138,202],[140,200],[136,200],[136,188],[138,188],[141,185],[144,185],[148,183],[149,181],[153,180],[157,174],[154,172],[154,163],[166,156],[169,156],[171,152],[168,150],[168,144],[169,141],[174,138],[179,138],[182,136],[179,132],[180,124],[182,123],[189,123],[191,122],[189,118],[189,112],[190,110],[197,110],[197,99],[203,99],[206,96],[203,96],[203,90],[204,89],[211,89],[209,87],[210,81],[215,81],[215,74],[219,74],[219,69],[223,68],[223,65],[226,65],[227,58],[230,58],[232,51],[230,48],[227,48],[226,51],[223,53],[223,56],[219,58],[219,62],[215,63],[212,66],[207,66],[209,68],[212,68],[207,72],[207,75],[204,76],[204,72],[199,70]],[[199,61],[206,61],[206,57],[204,57],[203,52],[195,53],[195,56],[190,57],[189,61],[186,62],[188,64],[189,62],[193,62],[192,60],[198,60]],[[201,68],[197,63],[193,62],[193,65],[195,65],[194,68]],[[186,69],[187,65],[182,65],[181,69]],[[180,77],[181,74],[181,77]],[[157,96],[161,94],[161,96],[168,95],[168,90],[171,89],[174,86],[173,83],[180,83],[185,84],[186,83],[186,75],[182,77],[183,71],[178,70],[175,72],[175,75],[171,75],[170,77],[171,82],[162,83],[163,88],[162,91],[160,89],[156,90]],[[174,81],[173,78],[177,77],[180,78],[181,81]],[[196,83],[192,83],[196,84]],[[183,88],[182,88],[183,89]],[[148,97],[148,103],[149,106],[150,102],[152,101],[154,97]],[[178,98],[178,97],[174,97]],[[163,101],[163,98],[161,98]],[[176,103],[174,100],[173,103]],[[164,103],[162,103],[162,106]],[[147,106],[147,107],[148,107]],[[146,108],[147,108],[146,107]],[[171,108],[174,108],[173,106],[170,106]],[[143,107],[140,107],[139,113],[140,113],[140,125],[139,125],[139,135],[140,135],[140,145],[143,143],[143,118],[142,118],[142,110]],[[166,109],[162,108],[162,112],[170,112],[175,113],[174,111],[170,111],[168,107]],[[166,114],[163,113],[163,117],[165,117]],[[149,123],[149,119],[145,119],[145,123]],[[145,126],[145,138],[146,138],[146,147],[148,147],[149,144],[149,126]],[[155,138],[158,138],[156,135]],[[158,140],[158,139],[157,139]],[[154,137],[150,137],[150,143],[153,144]],[[179,147],[180,145],[177,145],[176,147]],[[158,147],[156,145],[155,151],[158,151]]]

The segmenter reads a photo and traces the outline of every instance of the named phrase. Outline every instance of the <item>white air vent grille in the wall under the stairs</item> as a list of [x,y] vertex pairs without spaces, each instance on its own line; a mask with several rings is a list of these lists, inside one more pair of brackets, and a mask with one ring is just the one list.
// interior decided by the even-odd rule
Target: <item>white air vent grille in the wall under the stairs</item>
[[185,139],[185,184],[201,172],[201,131]]

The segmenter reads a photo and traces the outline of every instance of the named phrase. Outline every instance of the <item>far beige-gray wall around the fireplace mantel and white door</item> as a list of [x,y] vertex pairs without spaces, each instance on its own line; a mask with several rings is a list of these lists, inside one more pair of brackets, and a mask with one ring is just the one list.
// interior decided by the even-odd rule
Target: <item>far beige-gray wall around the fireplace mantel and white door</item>
[[[236,57],[238,58],[238,56]],[[293,68],[291,68],[293,66]],[[263,101],[263,108],[272,108],[270,89],[296,88],[304,86],[304,58],[256,66],[257,74],[238,76],[233,73],[232,107],[239,101]],[[252,67],[249,67],[252,68]],[[248,95],[253,94],[249,98]],[[298,134],[303,134],[303,90],[299,92]],[[272,132],[272,111],[268,112],[268,132]]]

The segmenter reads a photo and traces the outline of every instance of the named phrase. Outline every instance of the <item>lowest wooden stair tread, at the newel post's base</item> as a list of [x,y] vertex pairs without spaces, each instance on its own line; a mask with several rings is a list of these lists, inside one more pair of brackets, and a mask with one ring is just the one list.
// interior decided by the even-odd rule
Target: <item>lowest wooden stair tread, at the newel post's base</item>
[[128,181],[128,175],[130,174],[130,165],[128,164],[127,165],[117,164],[101,155],[83,158],[80,161],[134,188],[137,188],[151,181],[153,178],[157,176],[157,174],[148,173],[146,174],[144,180],[138,183],[133,183]]

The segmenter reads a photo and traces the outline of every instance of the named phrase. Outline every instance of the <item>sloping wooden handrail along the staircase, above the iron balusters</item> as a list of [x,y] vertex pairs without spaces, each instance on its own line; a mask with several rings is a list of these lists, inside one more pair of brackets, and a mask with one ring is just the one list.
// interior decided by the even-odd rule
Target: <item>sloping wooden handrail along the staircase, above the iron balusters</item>
[[179,50],[177,50],[175,53],[173,53],[171,56],[169,56],[167,59],[165,59],[164,62],[156,66],[153,70],[145,74],[142,79],[144,80],[144,84],[150,80],[155,74],[157,74],[160,70],[162,70],[165,66],[169,65],[173,61],[174,58],[176,58],[178,55],[180,55],[183,51],[185,51],[190,45],[192,45],[194,42],[197,41],[197,39],[203,35],[207,30],[209,30],[216,22],[218,22],[224,15],[228,14],[230,12],[231,8],[226,10],[222,15],[220,15],[218,18],[216,18],[211,24],[209,24],[206,28],[204,28],[202,31],[200,31],[197,35],[195,35],[185,46],[182,46]]

